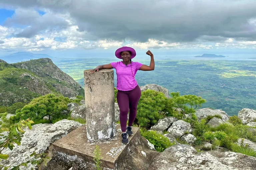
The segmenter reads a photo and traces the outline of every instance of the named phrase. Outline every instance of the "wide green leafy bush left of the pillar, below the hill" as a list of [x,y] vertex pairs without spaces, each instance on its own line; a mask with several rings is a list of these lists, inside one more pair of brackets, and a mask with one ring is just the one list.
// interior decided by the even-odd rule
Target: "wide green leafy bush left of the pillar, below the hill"
[[44,116],[51,116],[53,119],[57,119],[61,116],[61,112],[67,109],[68,103],[69,99],[66,97],[47,94],[33,99],[28,105],[17,110],[15,120],[32,118],[35,121],[39,121]]

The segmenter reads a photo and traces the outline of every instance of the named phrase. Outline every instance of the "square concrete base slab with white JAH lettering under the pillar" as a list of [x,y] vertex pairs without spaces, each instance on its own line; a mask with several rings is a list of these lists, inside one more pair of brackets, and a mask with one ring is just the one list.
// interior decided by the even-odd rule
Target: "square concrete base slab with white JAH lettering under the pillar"
[[86,126],[83,125],[67,136],[54,142],[53,148],[58,152],[70,156],[77,156],[86,162],[94,164],[93,156],[95,146],[98,145],[101,150],[102,166],[105,168],[115,169],[121,159],[129,152],[129,146],[136,144],[136,138],[140,137],[139,128],[132,127],[133,135],[129,136],[129,143],[122,144],[120,124],[116,126],[116,136],[113,139],[104,142],[88,142]]

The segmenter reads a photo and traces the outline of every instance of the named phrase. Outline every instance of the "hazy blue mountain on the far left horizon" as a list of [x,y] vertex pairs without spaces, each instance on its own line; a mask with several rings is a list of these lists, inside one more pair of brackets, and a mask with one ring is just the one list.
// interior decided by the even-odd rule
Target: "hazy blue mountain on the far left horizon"
[[0,57],[0,59],[8,63],[29,61],[31,59],[39,59],[39,58],[52,58],[52,57],[47,54],[33,54],[31,52],[25,52],[25,51],[15,52],[15,53]]

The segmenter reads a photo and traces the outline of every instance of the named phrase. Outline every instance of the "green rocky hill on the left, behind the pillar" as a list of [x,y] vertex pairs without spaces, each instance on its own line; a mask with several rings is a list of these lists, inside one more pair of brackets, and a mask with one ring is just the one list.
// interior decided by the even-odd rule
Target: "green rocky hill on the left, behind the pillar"
[[0,59],[0,106],[26,103],[49,93],[65,97],[84,96],[83,88],[50,58],[14,64]]

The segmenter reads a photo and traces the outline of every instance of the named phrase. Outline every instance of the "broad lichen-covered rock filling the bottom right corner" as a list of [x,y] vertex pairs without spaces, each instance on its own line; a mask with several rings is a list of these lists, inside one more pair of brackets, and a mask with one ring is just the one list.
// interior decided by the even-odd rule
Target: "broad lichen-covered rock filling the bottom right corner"
[[253,170],[256,158],[235,152],[200,152],[192,146],[173,145],[150,164],[148,170]]

